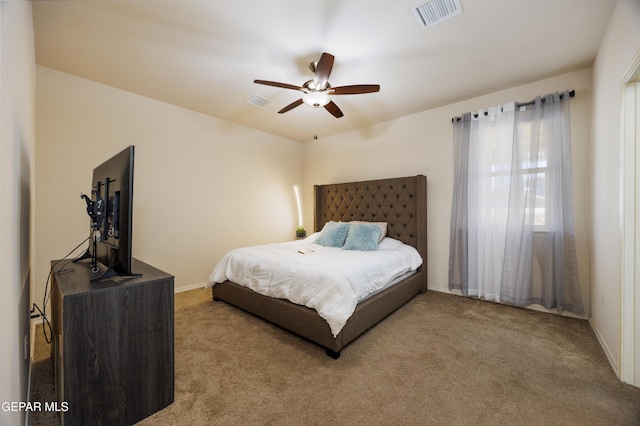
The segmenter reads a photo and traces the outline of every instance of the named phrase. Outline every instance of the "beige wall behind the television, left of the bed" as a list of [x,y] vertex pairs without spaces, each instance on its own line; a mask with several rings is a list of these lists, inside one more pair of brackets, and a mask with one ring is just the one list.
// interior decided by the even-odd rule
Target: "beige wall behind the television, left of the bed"
[[49,261],[89,234],[80,194],[91,190],[93,168],[128,145],[136,147],[133,255],[175,275],[177,289],[204,285],[232,248],[294,238],[301,144],[36,70],[36,301]]

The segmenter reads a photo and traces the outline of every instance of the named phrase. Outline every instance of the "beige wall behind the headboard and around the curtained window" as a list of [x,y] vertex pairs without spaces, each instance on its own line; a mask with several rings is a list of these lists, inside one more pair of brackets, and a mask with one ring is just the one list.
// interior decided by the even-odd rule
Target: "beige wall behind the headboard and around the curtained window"
[[312,223],[312,185],[424,174],[428,198],[429,288],[448,292],[449,223],[453,189],[451,118],[467,111],[574,89],[571,101],[574,202],[579,278],[587,313],[589,276],[589,144],[591,71],[563,74],[406,116],[371,128],[309,142],[304,151],[306,222]]

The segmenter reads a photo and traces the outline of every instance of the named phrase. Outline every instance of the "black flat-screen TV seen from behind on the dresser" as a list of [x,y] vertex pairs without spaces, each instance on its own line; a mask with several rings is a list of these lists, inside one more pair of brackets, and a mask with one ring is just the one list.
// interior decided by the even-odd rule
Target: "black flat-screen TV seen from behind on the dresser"
[[99,281],[115,276],[137,276],[131,271],[133,223],[133,160],[135,147],[127,147],[93,170],[87,203],[92,238],[81,259],[91,258]]

